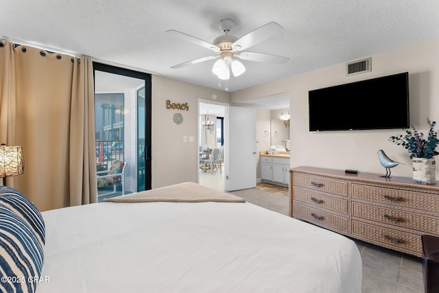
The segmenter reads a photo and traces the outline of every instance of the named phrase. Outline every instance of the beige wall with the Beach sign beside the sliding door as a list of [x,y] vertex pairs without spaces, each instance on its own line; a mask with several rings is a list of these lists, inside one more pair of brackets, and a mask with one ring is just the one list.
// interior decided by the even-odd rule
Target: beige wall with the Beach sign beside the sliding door
[[[152,188],[198,180],[198,99],[229,102],[230,93],[152,76]],[[188,103],[189,111],[167,109],[166,100]],[[182,113],[183,122],[173,121],[174,113]],[[183,136],[193,142],[183,142]]]

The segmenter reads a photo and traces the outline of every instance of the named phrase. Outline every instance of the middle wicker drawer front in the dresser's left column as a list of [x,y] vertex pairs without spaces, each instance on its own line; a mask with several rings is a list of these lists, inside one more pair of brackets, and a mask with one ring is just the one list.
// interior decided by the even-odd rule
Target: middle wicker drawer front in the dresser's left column
[[309,192],[302,189],[294,189],[294,200],[306,202],[316,207],[330,209],[339,213],[348,213],[348,200],[340,198],[331,198],[330,196],[322,196],[314,192]]

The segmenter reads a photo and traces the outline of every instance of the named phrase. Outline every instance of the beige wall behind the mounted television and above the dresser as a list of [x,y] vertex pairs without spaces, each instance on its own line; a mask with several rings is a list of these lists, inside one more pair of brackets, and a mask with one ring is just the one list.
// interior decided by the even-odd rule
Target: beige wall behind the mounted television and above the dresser
[[[402,130],[309,132],[308,91],[408,71],[410,120],[416,128],[427,132],[427,117],[439,121],[438,52],[439,39],[429,40],[372,55],[372,71],[369,73],[346,77],[345,63],[341,63],[236,91],[231,94],[231,102],[277,93],[290,94],[292,167],[308,165],[384,174],[377,157],[377,150],[383,149],[390,158],[405,163],[394,167],[392,174],[411,177],[409,154],[401,146],[388,141],[390,135],[403,133]],[[436,178],[439,178],[439,169],[436,169]]]

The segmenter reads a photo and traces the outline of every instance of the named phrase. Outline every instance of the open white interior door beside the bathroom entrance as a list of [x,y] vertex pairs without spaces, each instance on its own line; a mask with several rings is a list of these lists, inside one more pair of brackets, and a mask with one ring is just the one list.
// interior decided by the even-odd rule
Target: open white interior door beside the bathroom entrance
[[256,187],[256,110],[227,107],[226,191]]

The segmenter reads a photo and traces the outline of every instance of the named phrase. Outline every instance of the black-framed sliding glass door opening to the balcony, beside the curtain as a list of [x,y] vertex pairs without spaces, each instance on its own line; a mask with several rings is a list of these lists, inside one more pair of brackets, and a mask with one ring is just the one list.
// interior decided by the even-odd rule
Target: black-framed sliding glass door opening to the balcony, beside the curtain
[[98,201],[151,189],[151,76],[98,62],[93,71]]

